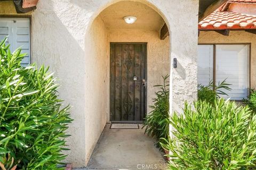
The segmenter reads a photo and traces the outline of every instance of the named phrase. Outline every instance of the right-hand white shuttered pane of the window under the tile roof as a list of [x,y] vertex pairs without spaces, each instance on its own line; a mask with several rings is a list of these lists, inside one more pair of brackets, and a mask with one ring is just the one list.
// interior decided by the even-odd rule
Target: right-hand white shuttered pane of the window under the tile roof
[[247,97],[249,88],[249,45],[216,45],[216,83],[227,78],[231,91],[223,90],[231,100]]

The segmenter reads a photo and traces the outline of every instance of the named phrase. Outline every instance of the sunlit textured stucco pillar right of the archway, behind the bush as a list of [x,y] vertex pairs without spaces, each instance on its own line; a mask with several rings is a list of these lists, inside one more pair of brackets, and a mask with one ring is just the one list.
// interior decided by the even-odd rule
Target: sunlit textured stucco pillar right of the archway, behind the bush
[[197,98],[198,1],[181,0],[169,3],[166,16],[171,31],[171,58],[177,58],[178,64],[177,69],[171,67],[172,113],[182,112],[185,101],[192,103]]

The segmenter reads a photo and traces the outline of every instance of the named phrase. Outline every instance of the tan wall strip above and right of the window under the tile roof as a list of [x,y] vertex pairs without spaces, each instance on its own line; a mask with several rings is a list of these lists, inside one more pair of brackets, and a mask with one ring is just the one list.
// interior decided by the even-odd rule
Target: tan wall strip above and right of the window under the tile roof
[[251,43],[251,88],[256,88],[256,35],[245,31],[230,31],[222,36],[214,31],[201,31],[198,43]]

